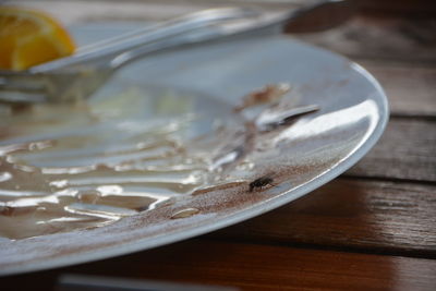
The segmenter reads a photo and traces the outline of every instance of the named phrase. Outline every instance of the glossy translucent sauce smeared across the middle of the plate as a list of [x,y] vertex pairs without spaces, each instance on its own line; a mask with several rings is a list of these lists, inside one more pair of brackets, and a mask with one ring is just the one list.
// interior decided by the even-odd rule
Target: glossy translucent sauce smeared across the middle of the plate
[[125,86],[86,104],[0,107],[0,237],[100,227],[219,183],[246,143],[232,108]]

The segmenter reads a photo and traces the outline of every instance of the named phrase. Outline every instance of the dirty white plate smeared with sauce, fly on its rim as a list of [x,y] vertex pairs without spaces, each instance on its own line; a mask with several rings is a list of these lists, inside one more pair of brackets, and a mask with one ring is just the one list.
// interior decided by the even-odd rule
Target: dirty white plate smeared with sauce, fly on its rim
[[[74,33],[86,43],[128,26]],[[388,119],[365,70],[284,36],[156,54],[74,106],[0,109],[3,275],[266,213],[349,169]]]

